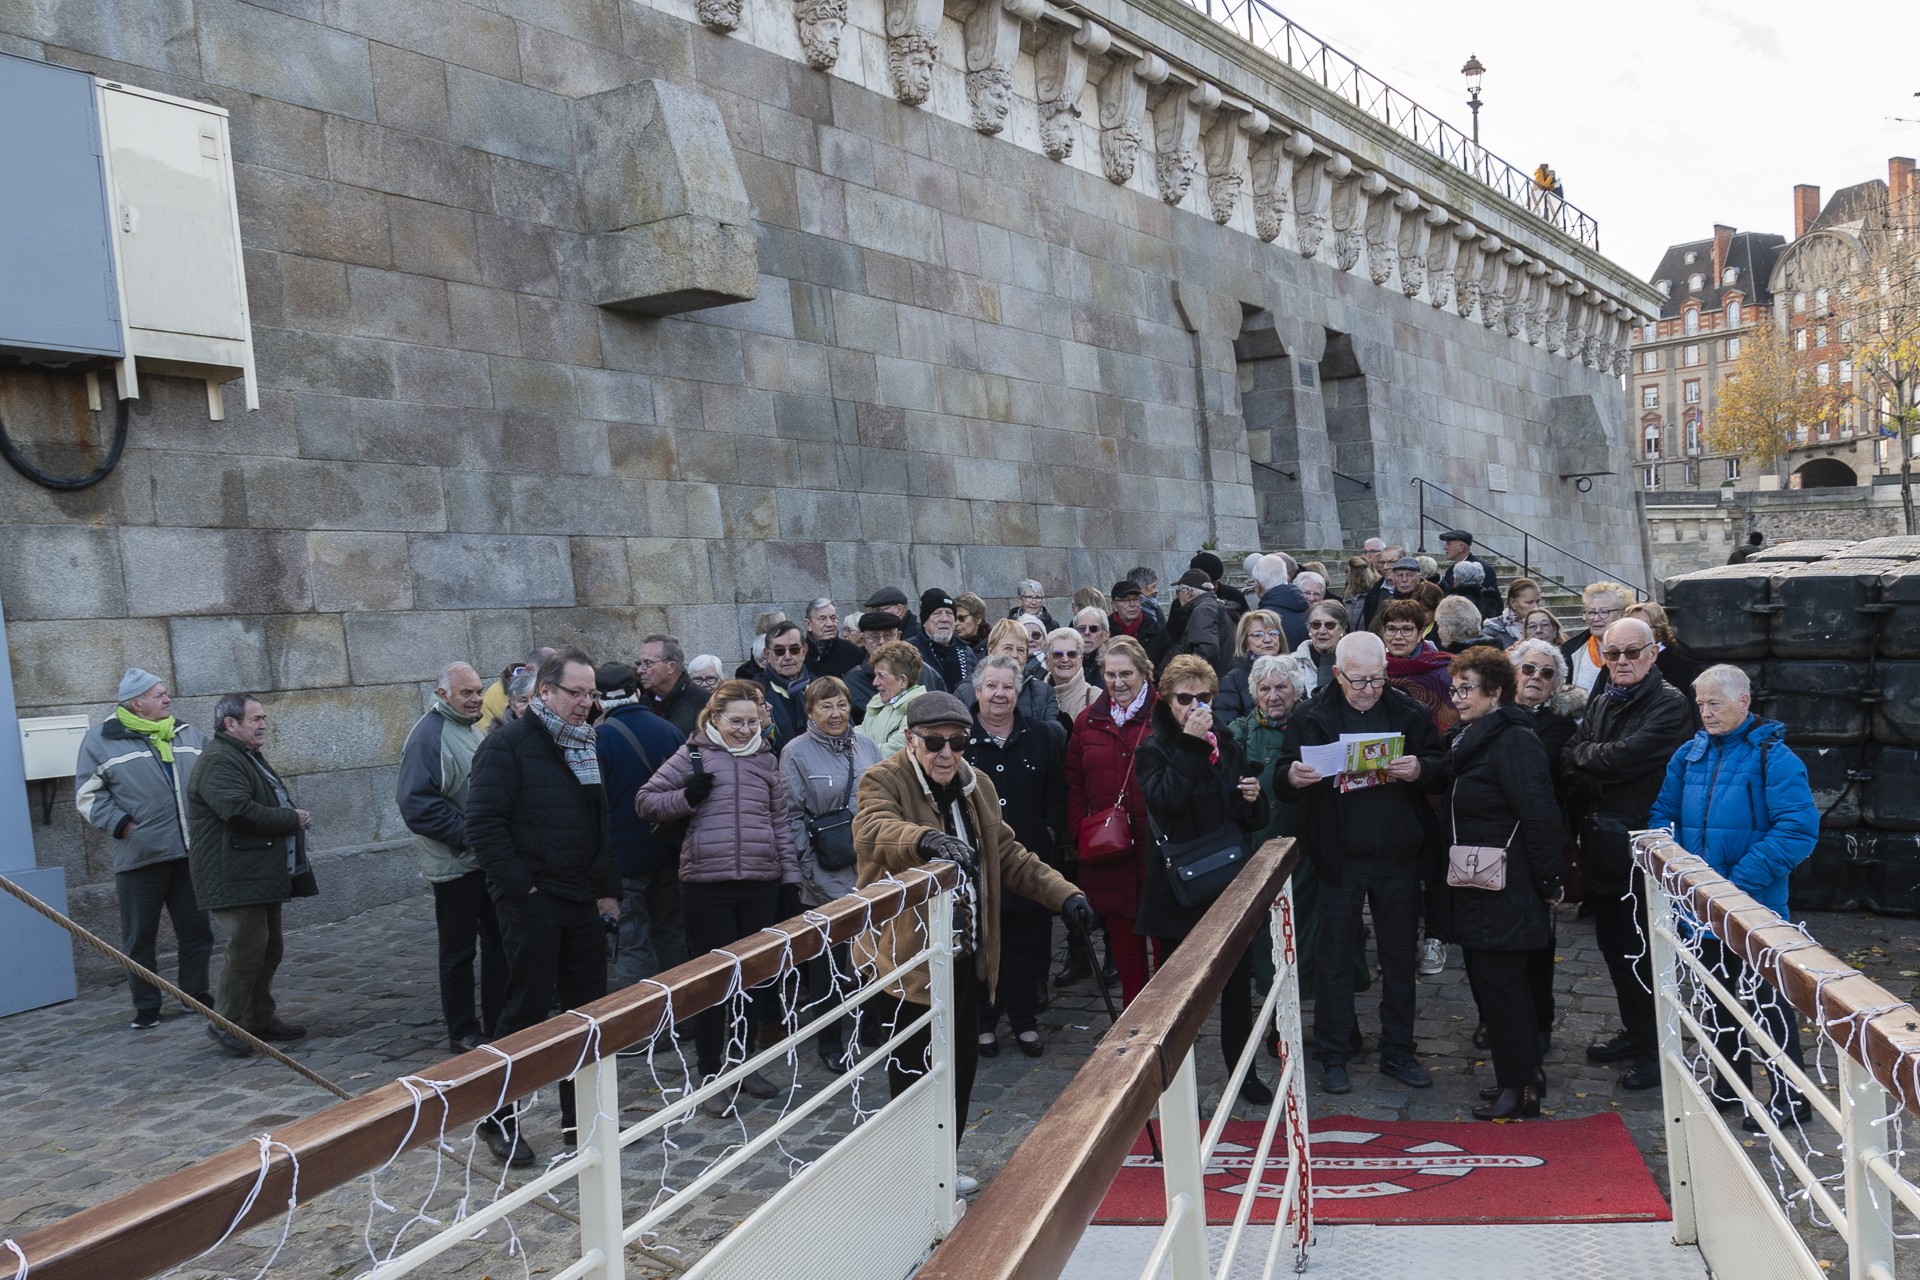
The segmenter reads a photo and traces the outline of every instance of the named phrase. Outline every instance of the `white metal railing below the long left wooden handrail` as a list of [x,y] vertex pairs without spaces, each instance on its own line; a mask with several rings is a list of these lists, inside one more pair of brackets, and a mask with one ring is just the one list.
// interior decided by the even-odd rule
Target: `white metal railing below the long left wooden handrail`
[[[820,1159],[795,1173],[787,1186],[768,1197],[735,1226],[718,1245],[685,1270],[699,1278],[764,1280],[770,1274],[833,1274],[891,1278],[904,1274],[914,1263],[952,1230],[958,1221],[954,1132],[954,1025],[952,1025],[952,892],[927,900],[927,940],[922,948],[887,973],[864,975],[858,990],[845,998],[828,998],[808,1006],[820,1015],[818,1025],[799,1021],[799,1009],[785,1011],[785,1031],[776,1044],[758,1054],[747,1054],[751,1036],[745,1019],[735,1017],[728,1069],[710,1080],[676,1094],[647,1119],[620,1128],[618,1057],[601,1054],[586,1061],[574,1075],[580,1105],[580,1146],[555,1161],[545,1173],[528,1178],[511,1196],[503,1196],[463,1221],[428,1236],[405,1253],[382,1261],[361,1280],[405,1276],[432,1263],[447,1249],[472,1238],[476,1228],[505,1219],[515,1209],[540,1196],[578,1182],[580,1197],[580,1257],[553,1272],[551,1280],[620,1280],[626,1247],[659,1236],[676,1215],[695,1205],[710,1188],[756,1157],[778,1150],[781,1140],[824,1107],[851,1098],[856,1125]],[[931,1006],[904,1023],[885,1023],[879,1044],[866,1048],[862,1023],[877,1019],[862,1015],[876,996],[891,1004],[885,988],[914,969],[927,969]],[[774,983],[791,973],[783,967]],[[737,992],[745,998],[745,992]],[[837,996],[837,992],[835,992]],[[620,1153],[641,1142],[666,1138],[676,1125],[685,1123],[695,1107],[714,1096],[732,1098],[753,1071],[778,1069],[791,1063],[801,1044],[818,1027],[835,1017],[849,1017],[852,1065],[829,1084],[814,1090],[804,1102],[793,1102],[766,1128],[749,1132],[741,1123],[743,1142],[720,1159],[701,1169],[684,1186],[668,1186],[664,1174],[641,1190],[641,1209],[628,1219],[628,1201],[636,1178],[620,1169]],[[874,1111],[862,1111],[858,1088],[862,1077],[885,1069],[893,1052],[914,1032],[931,1027],[931,1069],[900,1098]],[[670,1034],[666,1025],[657,1032]],[[689,1079],[691,1084],[691,1079]],[[591,1113],[589,1107],[591,1105]],[[824,1232],[822,1219],[810,1213],[816,1201],[860,1205],[860,1249],[849,1251],[839,1232]]]

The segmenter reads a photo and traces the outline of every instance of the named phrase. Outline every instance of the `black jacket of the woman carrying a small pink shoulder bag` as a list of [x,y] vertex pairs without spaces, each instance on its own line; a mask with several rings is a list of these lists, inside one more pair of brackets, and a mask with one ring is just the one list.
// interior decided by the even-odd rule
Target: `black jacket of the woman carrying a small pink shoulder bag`
[[1561,889],[1561,827],[1548,752],[1532,716],[1501,706],[1450,735],[1452,844],[1507,850],[1507,887],[1452,889],[1453,936],[1486,952],[1530,952],[1551,942],[1548,904]]

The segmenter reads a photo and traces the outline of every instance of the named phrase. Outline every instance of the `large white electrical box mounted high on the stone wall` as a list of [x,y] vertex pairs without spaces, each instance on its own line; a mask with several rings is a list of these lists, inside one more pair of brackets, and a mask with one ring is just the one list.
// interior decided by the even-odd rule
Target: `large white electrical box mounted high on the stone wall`
[[127,334],[119,393],[140,393],[140,368],[205,378],[219,420],[221,384],[244,378],[259,409],[225,107],[100,81],[100,134]]

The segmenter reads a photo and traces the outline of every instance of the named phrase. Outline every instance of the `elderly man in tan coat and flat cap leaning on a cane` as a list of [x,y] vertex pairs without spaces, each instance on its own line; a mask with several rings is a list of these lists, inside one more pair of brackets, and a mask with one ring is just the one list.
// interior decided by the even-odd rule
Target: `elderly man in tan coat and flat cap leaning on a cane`
[[[1092,908],[1058,871],[1027,850],[1000,816],[993,781],[966,762],[962,752],[973,731],[973,712],[950,693],[924,693],[906,712],[906,747],[860,777],[860,804],[852,819],[858,885],[929,862],[952,862],[972,885],[954,900],[954,1144],[966,1128],[973,1071],[979,1065],[979,986],[995,998],[1000,981],[1000,894],[1018,892],[1058,912],[1068,929],[1085,936]],[[860,963],[889,973],[914,956],[927,936],[927,912],[897,915],[877,933],[860,935]],[[912,1021],[931,1004],[927,969],[916,967],[889,986],[899,1000],[895,1025]],[[931,1067],[931,1027],[922,1027],[887,1061],[887,1086],[895,1098]],[[960,1194],[979,1190],[962,1174]]]

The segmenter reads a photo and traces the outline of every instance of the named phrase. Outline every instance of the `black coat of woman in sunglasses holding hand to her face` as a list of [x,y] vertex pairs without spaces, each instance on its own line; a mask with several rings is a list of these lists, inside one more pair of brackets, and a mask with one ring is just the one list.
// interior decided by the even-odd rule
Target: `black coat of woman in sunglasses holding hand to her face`
[[[1267,825],[1267,791],[1261,787],[1260,798],[1252,804],[1240,794],[1240,779],[1250,775],[1246,756],[1227,733],[1227,725],[1217,720],[1213,741],[1219,747],[1219,760],[1210,764],[1206,739],[1183,731],[1167,704],[1154,702],[1154,731],[1140,741],[1133,768],[1146,812],[1171,844],[1198,841],[1221,827],[1252,833]],[[1185,938],[1202,915],[1206,915],[1204,906],[1187,908],[1173,900],[1167,860],[1154,841],[1146,850],[1146,885],[1140,892],[1135,933],[1148,938]]]

